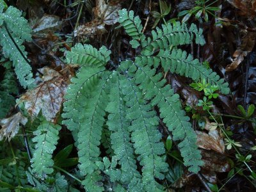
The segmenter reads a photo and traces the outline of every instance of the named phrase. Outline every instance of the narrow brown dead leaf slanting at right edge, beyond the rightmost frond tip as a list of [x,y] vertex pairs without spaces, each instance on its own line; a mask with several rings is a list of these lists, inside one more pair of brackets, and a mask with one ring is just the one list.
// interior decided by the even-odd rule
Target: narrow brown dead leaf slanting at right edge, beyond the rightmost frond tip
[[241,45],[234,52],[233,57],[234,60],[230,65],[227,65],[226,70],[232,71],[236,69],[239,64],[244,60],[244,57],[248,55],[249,52],[252,51],[255,45],[256,33],[255,32],[247,32],[246,35],[243,36]]

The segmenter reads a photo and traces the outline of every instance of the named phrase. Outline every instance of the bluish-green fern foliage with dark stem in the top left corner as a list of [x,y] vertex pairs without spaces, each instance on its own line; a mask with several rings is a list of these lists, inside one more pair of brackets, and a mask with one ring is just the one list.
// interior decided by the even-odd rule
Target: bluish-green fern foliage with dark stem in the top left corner
[[17,10],[17,8],[10,6],[4,10],[4,5],[5,4],[0,1],[0,46],[2,47],[3,56],[12,61],[13,67],[15,67],[15,74],[20,84],[24,88],[30,88],[33,86],[34,82],[31,67],[23,58],[22,54],[20,54],[15,44],[13,44],[13,40],[26,57],[27,52],[22,43],[31,40],[31,29],[28,26],[28,21],[24,19],[24,17],[21,17],[21,12]]

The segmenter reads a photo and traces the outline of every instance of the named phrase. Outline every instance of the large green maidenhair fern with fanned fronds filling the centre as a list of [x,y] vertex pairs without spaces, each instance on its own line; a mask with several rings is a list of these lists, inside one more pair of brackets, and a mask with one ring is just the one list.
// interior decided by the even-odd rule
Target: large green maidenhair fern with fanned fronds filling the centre
[[[130,44],[133,48],[140,47],[141,54],[109,71],[110,52],[106,47],[97,51],[92,45],[75,45],[67,53],[67,62],[80,68],[65,95],[63,124],[77,139],[79,169],[87,191],[104,190],[102,173],[120,189],[163,190],[157,180],[164,179],[168,164],[161,134],[157,131],[159,118],[172,132],[173,140],[179,141],[180,154],[189,171],[197,173],[202,160],[196,134],[182,110],[179,95],[166,84],[157,68],[194,81],[206,79],[225,94],[229,92],[228,84],[177,48],[177,45],[191,44],[194,38],[196,44],[203,45],[202,29],[176,22],[157,28],[152,31],[152,37],[146,38],[140,18],[134,17],[132,11],[120,10],[119,15],[121,26],[132,38]],[[103,140],[102,132],[106,136],[106,129],[110,136]],[[102,158],[100,141],[108,148],[109,137],[109,152],[113,150],[113,153],[107,152],[109,155]]]

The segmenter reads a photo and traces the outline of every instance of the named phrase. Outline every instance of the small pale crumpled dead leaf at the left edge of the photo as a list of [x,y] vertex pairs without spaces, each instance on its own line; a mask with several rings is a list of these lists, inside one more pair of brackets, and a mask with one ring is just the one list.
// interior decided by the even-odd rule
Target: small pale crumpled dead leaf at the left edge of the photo
[[20,124],[26,125],[27,122],[28,119],[20,112],[9,118],[0,120],[0,125],[2,126],[2,129],[0,129],[0,141],[3,140],[4,137],[8,138],[8,141],[10,141],[19,131]]

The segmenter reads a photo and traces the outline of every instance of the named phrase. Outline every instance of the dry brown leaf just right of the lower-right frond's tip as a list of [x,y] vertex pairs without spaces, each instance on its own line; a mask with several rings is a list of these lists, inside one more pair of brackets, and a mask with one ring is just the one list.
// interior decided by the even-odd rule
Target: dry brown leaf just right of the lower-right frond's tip
[[202,131],[196,131],[196,136],[196,143],[198,147],[204,148],[206,150],[214,150],[221,154],[225,152],[224,141],[220,137],[217,130],[209,131],[208,134]]

